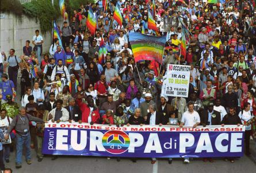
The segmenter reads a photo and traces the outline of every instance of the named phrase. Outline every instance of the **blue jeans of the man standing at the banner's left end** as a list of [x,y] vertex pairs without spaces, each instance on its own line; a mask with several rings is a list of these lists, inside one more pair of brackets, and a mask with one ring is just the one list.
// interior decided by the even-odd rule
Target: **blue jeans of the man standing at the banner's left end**
[[16,163],[21,164],[22,162],[22,151],[23,145],[26,147],[26,160],[31,160],[31,151],[30,151],[30,133],[27,136],[17,136],[16,137]]

